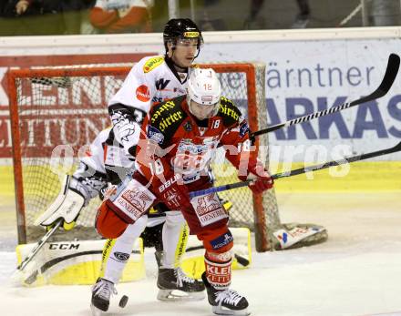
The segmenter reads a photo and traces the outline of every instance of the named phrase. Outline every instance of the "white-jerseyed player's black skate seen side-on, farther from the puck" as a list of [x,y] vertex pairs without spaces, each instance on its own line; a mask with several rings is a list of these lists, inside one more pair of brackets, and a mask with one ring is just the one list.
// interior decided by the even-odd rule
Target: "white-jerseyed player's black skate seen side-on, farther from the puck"
[[205,297],[202,281],[187,276],[180,268],[159,268],[159,301],[200,301]]

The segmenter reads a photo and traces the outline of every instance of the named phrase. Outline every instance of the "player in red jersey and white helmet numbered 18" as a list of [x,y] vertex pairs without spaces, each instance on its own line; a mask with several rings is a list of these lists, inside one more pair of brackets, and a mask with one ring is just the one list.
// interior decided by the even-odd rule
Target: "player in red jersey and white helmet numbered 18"
[[98,210],[98,232],[105,237],[122,234],[158,200],[169,209],[180,209],[190,233],[202,240],[206,250],[202,280],[212,311],[249,314],[245,297],[230,289],[233,238],[227,211],[216,193],[189,198],[190,191],[211,187],[208,170],[220,147],[240,179],[254,178],[253,192],[272,188],[272,178],[252,150],[249,127],[240,110],[221,97],[221,85],[212,69],[195,69],[187,96],[151,107],[141,136],[137,171]]

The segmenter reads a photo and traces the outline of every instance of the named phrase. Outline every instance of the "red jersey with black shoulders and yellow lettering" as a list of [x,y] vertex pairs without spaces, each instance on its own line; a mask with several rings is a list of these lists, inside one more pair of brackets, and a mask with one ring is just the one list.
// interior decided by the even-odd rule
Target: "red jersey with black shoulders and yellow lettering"
[[240,168],[242,161],[245,169],[249,162],[256,162],[255,155],[250,155],[248,124],[225,97],[221,97],[218,114],[203,121],[190,114],[186,96],[154,105],[142,130],[137,167],[151,181],[157,181],[161,174],[170,178],[175,172],[182,175],[184,183],[195,182],[208,174],[221,146],[235,168]]

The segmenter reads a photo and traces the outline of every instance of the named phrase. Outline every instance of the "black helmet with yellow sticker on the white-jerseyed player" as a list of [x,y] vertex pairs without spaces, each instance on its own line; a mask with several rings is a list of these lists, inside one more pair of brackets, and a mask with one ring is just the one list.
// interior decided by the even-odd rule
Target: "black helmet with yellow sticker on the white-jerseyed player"
[[168,51],[167,43],[172,42],[175,45],[179,38],[198,38],[198,50],[203,44],[198,25],[189,18],[172,18],[164,26],[163,41],[166,52]]

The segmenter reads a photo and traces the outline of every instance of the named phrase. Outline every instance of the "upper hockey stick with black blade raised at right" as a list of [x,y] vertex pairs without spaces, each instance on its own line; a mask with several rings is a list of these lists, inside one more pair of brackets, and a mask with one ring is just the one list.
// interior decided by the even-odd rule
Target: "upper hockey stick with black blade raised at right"
[[349,102],[349,103],[345,102],[344,104],[342,104],[340,106],[330,107],[323,111],[315,112],[315,113],[309,114],[307,116],[294,118],[294,119],[291,119],[284,123],[273,125],[272,127],[267,127],[267,128],[263,128],[261,130],[257,130],[256,132],[251,133],[251,138],[254,138],[254,137],[262,135],[262,134],[270,133],[274,130],[277,130],[277,129],[280,129],[283,127],[291,127],[294,124],[307,122],[307,121],[310,121],[317,117],[324,117],[328,114],[342,111],[345,108],[355,107],[355,106],[358,106],[365,102],[375,100],[376,98],[383,97],[386,95],[386,93],[388,92],[390,87],[393,86],[393,83],[396,80],[396,74],[398,73],[399,64],[400,64],[400,58],[398,55],[391,54],[390,56],[388,56],[386,74],[383,77],[383,80],[382,80],[380,86],[377,87],[375,89],[375,91],[372,92],[369,96],[358,98],[357,100]]

